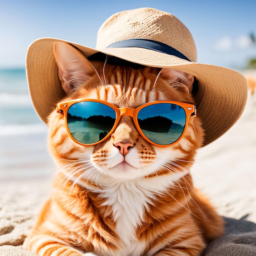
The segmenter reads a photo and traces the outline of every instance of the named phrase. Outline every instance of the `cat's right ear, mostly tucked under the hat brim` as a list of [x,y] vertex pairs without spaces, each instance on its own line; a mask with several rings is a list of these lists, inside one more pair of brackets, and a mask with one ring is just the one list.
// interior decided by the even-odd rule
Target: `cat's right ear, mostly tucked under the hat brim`
[[[193,89],[194,76],[179,70],[173,70],[171,68],[163,68],[161,75],[166,76],[168,82],[175,86],[178,90],[184,90],[191,93]],[[173,82],[177,82],[176,84]],[[181,85],[179,85],[181,83]],[[184,86],[185,85],[185,86]]]

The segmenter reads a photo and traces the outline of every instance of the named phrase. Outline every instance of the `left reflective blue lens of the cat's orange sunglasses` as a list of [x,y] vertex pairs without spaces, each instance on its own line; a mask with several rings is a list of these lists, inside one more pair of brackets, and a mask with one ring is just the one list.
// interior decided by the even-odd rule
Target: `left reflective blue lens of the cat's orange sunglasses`
[[93,101],[74,103],[67,112],[67,126],[76,141],[93,144],[104,139],[113,128],[116,112]]

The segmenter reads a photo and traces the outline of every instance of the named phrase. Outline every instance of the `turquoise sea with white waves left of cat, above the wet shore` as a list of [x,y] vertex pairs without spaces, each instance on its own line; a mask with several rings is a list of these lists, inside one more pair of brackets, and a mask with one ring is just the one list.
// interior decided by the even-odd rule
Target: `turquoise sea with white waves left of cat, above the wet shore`
[[0,70],[0,137],[45,132],[34,111],[25,69]]

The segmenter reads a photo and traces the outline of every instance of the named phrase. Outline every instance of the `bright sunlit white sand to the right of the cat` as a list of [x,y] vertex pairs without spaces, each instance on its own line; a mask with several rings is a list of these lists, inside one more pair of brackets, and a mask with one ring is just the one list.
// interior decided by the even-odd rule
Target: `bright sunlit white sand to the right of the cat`
[[[201,148],[192,173],[222,216],[256,222],[256,95],[238,122]],[[200,163],[200,164],[199,164]]]

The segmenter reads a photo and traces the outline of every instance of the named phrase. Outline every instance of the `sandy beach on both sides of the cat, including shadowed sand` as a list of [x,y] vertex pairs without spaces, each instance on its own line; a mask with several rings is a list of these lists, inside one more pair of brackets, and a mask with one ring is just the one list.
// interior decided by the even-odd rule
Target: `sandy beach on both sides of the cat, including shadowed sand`
[[[198,151],[192,168],[195,185],[227,222],[225,236],[210,243],[203,255],[256,255],[255,127],[256,93],[249,91],[238,122]],[[0,256],[34,255],[22,243],[54,175],[46,137],[46,126],[39,133],[0,137]]]

